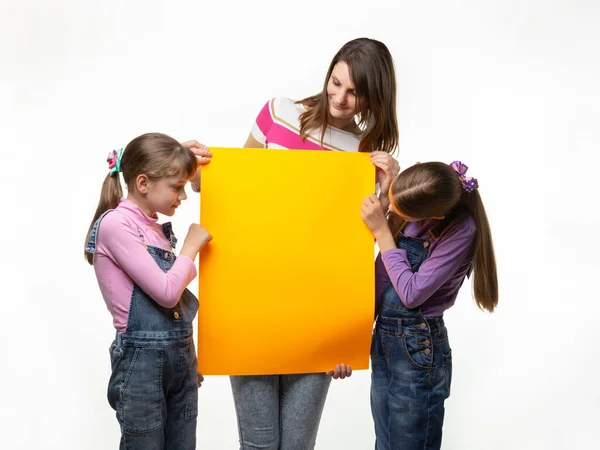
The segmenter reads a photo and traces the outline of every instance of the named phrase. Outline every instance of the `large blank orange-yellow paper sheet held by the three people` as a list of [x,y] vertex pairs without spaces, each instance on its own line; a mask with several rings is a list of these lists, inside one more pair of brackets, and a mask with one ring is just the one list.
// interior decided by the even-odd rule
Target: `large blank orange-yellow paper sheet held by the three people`
[[198,368],[367,369],[374,312],[368,154],[211,148],[202,168]]

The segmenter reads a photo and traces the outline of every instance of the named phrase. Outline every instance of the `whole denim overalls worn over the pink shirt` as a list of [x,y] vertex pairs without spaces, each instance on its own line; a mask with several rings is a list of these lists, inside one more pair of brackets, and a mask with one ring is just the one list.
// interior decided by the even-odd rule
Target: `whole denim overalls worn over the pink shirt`
[[[96,250],[96,235],[104,213],[94,224],[86,251]],[[118,212],[118,211],[117,211]],[[174,247],[170,223],[163,232]],[[144,239],[138,228],[138,234]],[[175,255],[146,246],[167,272]],[[110,346],[112,375],[108,402],[117,412],[121,449],[195,449],[198,416],[198,363],[192,321],[198,300],[187,289],[173,308],[154,302],[134,284],[127,329]]]

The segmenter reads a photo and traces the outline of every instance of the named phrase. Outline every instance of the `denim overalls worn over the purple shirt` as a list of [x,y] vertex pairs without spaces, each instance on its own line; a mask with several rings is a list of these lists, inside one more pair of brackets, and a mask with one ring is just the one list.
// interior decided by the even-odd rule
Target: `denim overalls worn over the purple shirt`
[[[430,232],[435,241],[451,221]],[[431,241],[400,234],[413,272],[429,256]],[[379,300],[371,343],[371,411],[376,450],[435,450],[442,443],[444,400],[450,395],[452,357],[444,320],[408,309],[392,283]]]

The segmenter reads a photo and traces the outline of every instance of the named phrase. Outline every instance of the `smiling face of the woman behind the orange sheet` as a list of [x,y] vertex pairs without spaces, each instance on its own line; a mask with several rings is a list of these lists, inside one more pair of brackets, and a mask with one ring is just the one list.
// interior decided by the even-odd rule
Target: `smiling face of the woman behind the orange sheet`
[[348,65],[337,63],[327,82],[327,101],[331,125],[344,128],[356,115],[356,92]]

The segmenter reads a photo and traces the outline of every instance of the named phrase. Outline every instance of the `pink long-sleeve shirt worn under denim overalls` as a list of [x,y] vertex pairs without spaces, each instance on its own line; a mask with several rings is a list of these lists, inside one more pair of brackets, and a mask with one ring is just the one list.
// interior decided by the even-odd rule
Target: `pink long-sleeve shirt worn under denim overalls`
[[94,270],[118,331],[127,328],[134,284],[159,305],[172,308],[196,278],[196,265],[189,257],[178,256],[171,270],[163,272],[148,253],[146,245],[171,251],[157,221],[158,217],[147,216],[135,203],[122,198],[100,222]]

